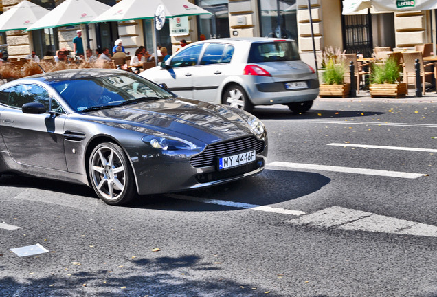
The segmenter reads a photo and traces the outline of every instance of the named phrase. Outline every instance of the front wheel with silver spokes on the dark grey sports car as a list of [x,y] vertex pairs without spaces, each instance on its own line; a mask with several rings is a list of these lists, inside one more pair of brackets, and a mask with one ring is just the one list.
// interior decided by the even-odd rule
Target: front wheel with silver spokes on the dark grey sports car
[[104,203],[120,206],[137,194],[131,165],[117,144],[98,144],[89,157],[88,172],[94,191]]

